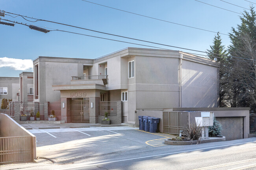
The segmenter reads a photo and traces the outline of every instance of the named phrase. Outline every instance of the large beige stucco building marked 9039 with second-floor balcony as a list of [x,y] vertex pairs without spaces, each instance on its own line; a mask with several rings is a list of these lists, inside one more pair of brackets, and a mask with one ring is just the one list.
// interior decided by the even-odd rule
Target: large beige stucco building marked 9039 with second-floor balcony
[[219,107],[219,63],[181,51],[128,47],[94,60],[39,56],[33,64],[40,113],[45,101],[61,101],[66,122],[76,108],[97,123],[100,101],[122,101],[127,123],[140,109]]

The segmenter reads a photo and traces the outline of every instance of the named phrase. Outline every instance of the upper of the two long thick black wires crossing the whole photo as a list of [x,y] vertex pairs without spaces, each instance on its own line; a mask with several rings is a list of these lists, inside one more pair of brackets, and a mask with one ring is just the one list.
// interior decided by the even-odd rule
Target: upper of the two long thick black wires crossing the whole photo
[[[32,17],[29,17],[29,18],[32,18]],[[35,19],[35,18],[33,18],[33,19]],[[4,20],[4,19],[2,19],[2,20]],[[46,22],[52,22],[52,21],[41,20],[41,19],[35,19],[35,20],[46,21]],[[9,21],[9,20],[6,20],[6,21]],[[12,22],[12,21],[9,21],[9,22]],[[73,25],[62,24],[62,23],[58,23],[58,22],[52,22],[52,23],[61,24],[61,25],[67,25],[67,26],[71,26],[71,27],[76,27],[76,26],[73,26]],[[76,28],[85,29],[85,28],[82,28],[82,27],[76,27]],[[131,39],[131,40],[137,40],[137,41],[141,41],[141,42],[147,42],[147,43],[153,43],[153,44],[157,44],[157,45],[163,45],[163,46],[167,46],[167,47],[173,47],[173,48],[184,49],[184,50],[189,50],[189,51],[196,51],[196,52],[208,53],[208,54],[219,55],[219,56],[227,56],[227,55],[223,55],[223,54],[209,53],[209,52],[205,52],[205,51],[193,50],[193,49],[188,49],[188,48],[183,48],[183,47],[177,47],[177,46],[173,46],[173,45],[166,45],[166,44],[162,44],[162,43],[155,43],[155,42],[140,40],[140,39],[136,39],[136,38],[130,38],[130,37],[126,37],[126,36],[120,36],[120,35],[115,35],[115,34],[109,34],[109,33],[104,33],[104,32],[95,31],[95,30],[91,30],[91,29],[85,29],[85,30],[94,31],[94,32],[97,32],[97,33],[102,33],[102,34],[107,34],[107,35],[112,35],[112,36],[118,36],[118,37],[121,37],[121,38],[127,38],[127,39]],[[148,46],[148,47],[150,47],[150,46]],[[152,46],[152,47],[153,47],[153,46]],[[230,57],[230,56],[227,56],[227,57]],[[235,57],[235,56],[233,56],[233,57],[234,57],[234,58],[241,58],[241,57]],[[244,59],[244,60],[253,60],[253,59],[249,59],[249,58],[242,58],[242,59]]]

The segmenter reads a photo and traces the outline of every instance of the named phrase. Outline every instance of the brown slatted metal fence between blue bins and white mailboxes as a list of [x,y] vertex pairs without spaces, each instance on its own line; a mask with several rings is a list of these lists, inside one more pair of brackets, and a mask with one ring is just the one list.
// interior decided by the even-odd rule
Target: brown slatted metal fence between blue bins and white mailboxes
[[163,132],[180,134],[188,128],[188,112],[163,112]]

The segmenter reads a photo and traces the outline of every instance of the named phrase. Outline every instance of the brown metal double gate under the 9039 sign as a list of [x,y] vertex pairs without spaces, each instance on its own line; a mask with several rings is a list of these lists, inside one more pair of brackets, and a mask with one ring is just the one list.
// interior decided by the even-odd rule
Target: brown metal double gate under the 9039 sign
[[71,121],[90,123],[89,101],[71,100]]

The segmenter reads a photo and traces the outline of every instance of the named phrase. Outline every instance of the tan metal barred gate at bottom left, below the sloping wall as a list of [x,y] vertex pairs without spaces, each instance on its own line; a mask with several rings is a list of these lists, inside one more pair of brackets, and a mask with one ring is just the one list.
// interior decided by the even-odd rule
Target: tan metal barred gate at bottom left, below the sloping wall
[[32,136],[0,137],[0,163],[33,161]]

